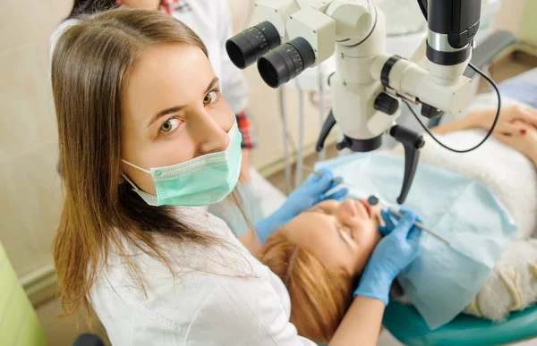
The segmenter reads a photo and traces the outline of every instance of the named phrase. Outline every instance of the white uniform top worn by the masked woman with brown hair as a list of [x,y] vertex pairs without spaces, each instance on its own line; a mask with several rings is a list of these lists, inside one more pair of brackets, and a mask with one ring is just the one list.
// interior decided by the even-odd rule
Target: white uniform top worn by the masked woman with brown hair
[[243,248],[225,222],[200,208],[180,207],[178,217],[226,241],[226,249],[162,240],[175,279],[162,262],[127,249],[145,292],[124,259],[111,254],[90,302],[112,344],[315,345],[289,323],[284,283]]

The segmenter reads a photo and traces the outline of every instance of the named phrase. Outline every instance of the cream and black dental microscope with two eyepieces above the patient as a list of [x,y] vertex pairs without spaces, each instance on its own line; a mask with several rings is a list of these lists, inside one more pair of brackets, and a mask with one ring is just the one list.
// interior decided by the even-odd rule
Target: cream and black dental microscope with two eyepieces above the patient
[[255,4],[260,23],[228,39],[226,51],[240,69],[257,63],[272,88],[335,54],[337,72],[328,77],[332,109],[317,150],[335,124],[343,132],[338,150],[368,152],[381,146],[383,135],[391,135],[405,148],[397,198],[403,204],[425,142],[396,124],[400,105],[421,105],[427,118],[463,111],[472,97],[471,80],[463,72],[472,58],[481,2],[418,0],[429,30],[422,49],[407,60],[385,53],[385,16],[369,0],[260,0]]

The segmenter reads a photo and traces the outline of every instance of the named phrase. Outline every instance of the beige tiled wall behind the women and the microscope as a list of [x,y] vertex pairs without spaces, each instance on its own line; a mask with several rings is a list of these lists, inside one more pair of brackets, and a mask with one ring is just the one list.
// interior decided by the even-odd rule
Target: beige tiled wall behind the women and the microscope
[[[499,27],[518,30],[522,9],[504,1]],[[534,1],[534,0],[528,0]],[[249,0],[229,0],[235,30],[245,27]],[[20,276],[51,263],[51,240],[61,209],[55,174],[55,114],[47,72],[48,37],[70,10],[70,0],[0,3],[0,241]],[[277,91],[264,85],[255,67],[245,72],[250,83],[251,120],[260,147],[253,163],[278,167],[283,146]],[[289,130],[297,136],[297,94],[286,91]],[[306,101],[305,142],[319,133],[317,109]]]

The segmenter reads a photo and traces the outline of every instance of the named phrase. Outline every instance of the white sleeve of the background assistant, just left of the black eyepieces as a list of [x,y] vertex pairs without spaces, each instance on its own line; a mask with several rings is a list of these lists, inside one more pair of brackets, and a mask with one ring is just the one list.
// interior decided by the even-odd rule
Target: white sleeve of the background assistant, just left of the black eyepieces
[[220,60],[222,63],[222,94],[234,114],[246,110],[248,106],[248,84],[243,72],[229,59],[226,52],[226,40],[233,36],[231,16],[226,0],[217,2],[217,21],[219,28],[218,45],[221,47]]

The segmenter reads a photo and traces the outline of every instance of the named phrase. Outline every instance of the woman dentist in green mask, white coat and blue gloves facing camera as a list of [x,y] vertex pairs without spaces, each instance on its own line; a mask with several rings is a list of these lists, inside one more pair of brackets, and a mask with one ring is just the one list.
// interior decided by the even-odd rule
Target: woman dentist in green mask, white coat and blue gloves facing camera
[[[66,313],[96,311],[117,345],[298,345],[284,284],[252,256],[333,188],[313,177],[238,241],[195,208],[234,189],[241,133],[207,49],[172,17],[101,13],[52,59],[64,210],[55,265]],[[330,344],[374,345],[392,281],[417,256],[416,215],[388,222]],[[250,250],[250,251],[249,251]]]

